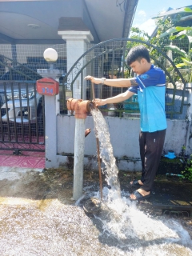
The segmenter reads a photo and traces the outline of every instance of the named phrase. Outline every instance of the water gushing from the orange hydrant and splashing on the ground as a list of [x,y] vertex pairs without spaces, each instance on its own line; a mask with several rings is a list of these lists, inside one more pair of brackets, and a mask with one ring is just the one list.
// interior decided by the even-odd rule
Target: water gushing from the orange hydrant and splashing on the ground
[[[99,110],[91,110],[91,114],[100,142],[100,158],[105,164],[103,172],[111,187],[103,188],[102,211],[95,215],[102,222],[101,239],[109,236],[120,248],[132,251],[131,255],[192,254],[190,235],[178,222],[150,217],[138,210],[135,202],[122,197],[108,126]],[[135,246],[139,249],[135,250]]]

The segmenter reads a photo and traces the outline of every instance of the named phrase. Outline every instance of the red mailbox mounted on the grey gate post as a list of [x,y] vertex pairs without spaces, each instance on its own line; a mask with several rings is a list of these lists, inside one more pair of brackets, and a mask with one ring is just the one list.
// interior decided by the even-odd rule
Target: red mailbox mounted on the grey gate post
[[38,94],[54,96],[58,94],[59,82],[54,78],[42,78],[36,82]]

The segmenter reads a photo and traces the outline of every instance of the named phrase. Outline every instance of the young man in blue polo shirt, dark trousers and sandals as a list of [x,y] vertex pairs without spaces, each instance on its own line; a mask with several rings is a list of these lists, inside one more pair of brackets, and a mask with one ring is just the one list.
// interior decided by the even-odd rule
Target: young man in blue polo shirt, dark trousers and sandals
[[158,164],[162,155],[166,136],[165,94],[166,77],[164,72],[150,62],[150,54],[145,46],[133,47],[126,57],[126,63],[135,78],[106,79],[87,76],[95,84],[102,82],[107,86],[129,87],[126,92],[112,98],[95,99],[97,106],[123,102],[134,94],[138,94],[141,114],[141,132],[139,134],[140,155],[142,160],[142,178],[132,181],[132,186],[140,186],[130,200],[149,198]]

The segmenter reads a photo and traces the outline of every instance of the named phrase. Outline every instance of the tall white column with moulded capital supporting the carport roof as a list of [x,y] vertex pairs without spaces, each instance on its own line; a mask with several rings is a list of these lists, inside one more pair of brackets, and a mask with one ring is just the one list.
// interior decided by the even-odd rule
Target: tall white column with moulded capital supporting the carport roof
[[[74,65],[74,62],[78,60],[86,52],[86,43],[93,41],[93,36],[90,31],[58,31],[58,34],[62,36],[63,40],[66,40],[66,62],[67,62],[67,72],[70,70],[71,66]],[[78,63],[77,66],[74,67],[75,73],[77,74],[79,70],[82,69],[83,60]],[[74,72],[70,76],[70,82],[74,79]],[[83,75],[86,75],[85,73]],[[76,82],[73,85],[73,98],[81,98],[81,75],[78,76]],[[84,86],[85,88],[85,86]],[[70,89],[70,88],[68,88]],[[85,92],[82,93],[85,95]]]

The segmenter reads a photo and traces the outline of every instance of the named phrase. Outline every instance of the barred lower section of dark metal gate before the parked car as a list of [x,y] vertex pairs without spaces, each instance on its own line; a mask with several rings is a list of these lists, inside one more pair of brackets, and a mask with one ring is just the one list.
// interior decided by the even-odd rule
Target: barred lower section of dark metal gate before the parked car
[[44,151],[44,98],[36,82],[0,81],[0,150]]

